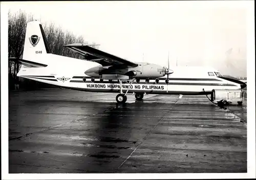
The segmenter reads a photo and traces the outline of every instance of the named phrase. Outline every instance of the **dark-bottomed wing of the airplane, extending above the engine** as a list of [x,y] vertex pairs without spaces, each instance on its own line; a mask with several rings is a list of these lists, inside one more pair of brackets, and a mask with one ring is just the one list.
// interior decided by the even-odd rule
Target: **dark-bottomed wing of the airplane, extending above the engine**
[[97,62],[102,66],[113,66],[117,65],[119,67],[136,67],[138,66],[137,63],[128,61],[126,59],[122,59],[120,57],[114,56],[109,53],[105,53],[103,51],[97,50],[90,46],[83,45],[81,43],[73,43],[68,44],[63,47],[67,47],[81,55],[84,56],[85,59]]

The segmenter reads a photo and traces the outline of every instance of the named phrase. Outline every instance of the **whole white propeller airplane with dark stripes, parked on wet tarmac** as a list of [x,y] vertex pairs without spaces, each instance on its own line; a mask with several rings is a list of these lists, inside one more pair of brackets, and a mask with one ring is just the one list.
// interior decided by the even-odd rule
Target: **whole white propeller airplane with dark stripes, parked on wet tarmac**
[[[23,59],[18,77],[85,92],[118,93],[116,101],[125,103],[127,93],[142,100],[145,94],[210,95],[212,89],[242,89],[246,84],[224,77],[213,68],[173,67],[132,62],[85,44],[65,48],[84,59],[51,54],[39,21],[27,24]],[[170,77],[169,77],[170,76]]]

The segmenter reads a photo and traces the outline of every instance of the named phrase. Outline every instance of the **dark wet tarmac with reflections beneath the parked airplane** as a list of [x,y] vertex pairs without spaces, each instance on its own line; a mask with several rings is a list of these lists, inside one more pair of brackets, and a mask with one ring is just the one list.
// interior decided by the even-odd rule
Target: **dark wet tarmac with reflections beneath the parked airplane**
[[9,173],[247,172],[246,98],[9,93]]

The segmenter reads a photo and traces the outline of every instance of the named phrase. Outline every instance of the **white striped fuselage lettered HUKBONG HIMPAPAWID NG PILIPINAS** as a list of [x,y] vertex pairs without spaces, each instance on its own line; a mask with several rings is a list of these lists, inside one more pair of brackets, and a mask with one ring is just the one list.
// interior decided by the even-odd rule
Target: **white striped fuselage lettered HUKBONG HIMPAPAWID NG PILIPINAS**
[[[120,92],[118,80],[100,79],[84,73],[99,66],[98,63],[53,54],[40,55],[38,58],[43,58],[48,66],[44,68],[22,66],[18,76],[79,91]],[[193,70],[189,67],[184,70],[177,69],[169,75],[168,82],[166,82],[167,75],[160,78],[150,76],[137,78],[131,85],[129,93],[199,95],[210,94],[212,89],[241,88],[240,83],[218,76],[208,76],[207,71],[213,70],[205,69],[204,72],[199,73],[197,69]],[[122,84],[124,92],[128,86],[129,82],[124,81]]]

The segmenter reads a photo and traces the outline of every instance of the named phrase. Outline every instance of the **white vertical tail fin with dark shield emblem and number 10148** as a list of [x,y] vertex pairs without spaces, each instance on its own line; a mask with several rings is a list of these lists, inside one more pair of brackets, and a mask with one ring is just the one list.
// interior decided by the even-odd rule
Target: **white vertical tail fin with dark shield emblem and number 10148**
[[50,48],[41,23],[39,21],[28,22],[23,59],[40,63],[40,56],[47,53],[50,53]]

